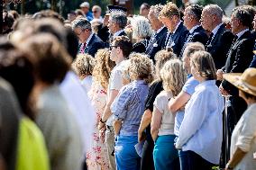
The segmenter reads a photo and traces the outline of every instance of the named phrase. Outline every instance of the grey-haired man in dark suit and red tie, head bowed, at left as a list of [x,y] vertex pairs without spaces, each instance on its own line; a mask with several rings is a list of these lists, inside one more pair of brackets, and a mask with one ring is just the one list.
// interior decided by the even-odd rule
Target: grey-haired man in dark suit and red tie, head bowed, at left
[[86,19],[75,20],[72,29],[77,34],[80,41],[78,53],[87,53],[95,57],[96,51],[105,47],[104,42],[92,32],[91,23]]

